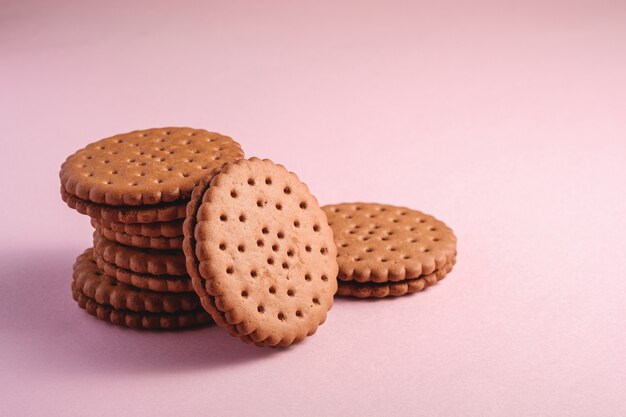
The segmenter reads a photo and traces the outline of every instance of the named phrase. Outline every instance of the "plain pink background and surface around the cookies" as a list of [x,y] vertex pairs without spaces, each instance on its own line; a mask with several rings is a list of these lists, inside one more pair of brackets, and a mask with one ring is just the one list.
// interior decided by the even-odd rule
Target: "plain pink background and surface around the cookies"
[[[0,415],[626,415],[624,2],[86,3],[0,5]],[[100,322],[59,166],[167,125],[435,214],[458,264],[286,350]]]

